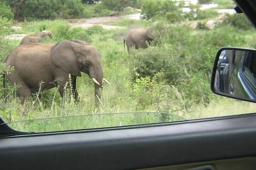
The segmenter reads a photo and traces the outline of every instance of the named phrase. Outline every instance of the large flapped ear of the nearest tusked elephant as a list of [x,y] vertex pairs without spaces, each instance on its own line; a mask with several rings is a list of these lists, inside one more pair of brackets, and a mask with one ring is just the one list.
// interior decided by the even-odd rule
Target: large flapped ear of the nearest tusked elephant
[[73,76],[81,76],[78,57],[74,51],[74,46],[79,45],[72,41],[61,41],[52,47],[51,59],[53,63],[62,68],[65,72]]

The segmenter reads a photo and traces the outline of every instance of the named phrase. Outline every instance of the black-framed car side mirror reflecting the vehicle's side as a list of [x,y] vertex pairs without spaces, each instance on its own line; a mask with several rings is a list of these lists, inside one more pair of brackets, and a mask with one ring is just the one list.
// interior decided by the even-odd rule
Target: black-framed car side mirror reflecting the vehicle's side
[[211,89],[230,98],[256,102],[256,50],[222,47],[217,52]]

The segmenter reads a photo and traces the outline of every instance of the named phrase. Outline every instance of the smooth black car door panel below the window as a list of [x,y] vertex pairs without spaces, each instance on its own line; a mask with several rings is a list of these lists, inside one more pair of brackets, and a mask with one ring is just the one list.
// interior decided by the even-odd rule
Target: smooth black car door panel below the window
[[[11,169],[139,169],[256,156],[256,115],[0,139]],[[13,163],[15,162],[15,163]],[[200,165],[200,164],[199,164]]]

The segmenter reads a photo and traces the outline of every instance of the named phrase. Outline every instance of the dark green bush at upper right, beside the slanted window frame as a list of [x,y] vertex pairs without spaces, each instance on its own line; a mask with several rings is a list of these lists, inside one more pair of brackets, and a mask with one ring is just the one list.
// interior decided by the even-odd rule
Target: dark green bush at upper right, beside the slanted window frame
[[229,24],[241,30],[249,30],[251,29],[251,23],[242,14],[227,14],[224,22],[224,25]]

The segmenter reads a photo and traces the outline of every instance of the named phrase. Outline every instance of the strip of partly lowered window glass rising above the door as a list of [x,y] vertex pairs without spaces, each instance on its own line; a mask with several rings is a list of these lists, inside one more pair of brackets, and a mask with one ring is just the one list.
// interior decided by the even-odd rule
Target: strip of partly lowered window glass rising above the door
[[171,122],[184,120],[184,118],[170,113],[133,112],[58,116],[20,120],[6,124],[22,132],[38,133],[158,124],[165,122],[167,119]]

